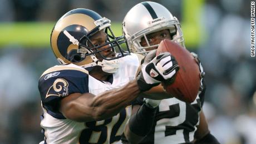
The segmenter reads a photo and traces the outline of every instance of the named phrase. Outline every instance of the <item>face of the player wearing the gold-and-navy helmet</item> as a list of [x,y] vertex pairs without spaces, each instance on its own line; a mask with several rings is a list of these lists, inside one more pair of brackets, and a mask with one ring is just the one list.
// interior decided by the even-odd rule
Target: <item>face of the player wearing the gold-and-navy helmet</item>
[[[99,31],[97,33],[95,33],[91,38],[90,38],[92,44],[94,44],[96,47],[98,46],[101,46],[102,44],[105,44],[107,42],[107,34],[104,32],[104,31]],[[91,46],[90,43],[88,43],[88,46],[89,47],[93,47]],[[101,49],[104,49],[106,47],[108,47],[109,45],[106,45],[106,46],[102,46],[100,48],[98,48],[97,50],[101,50]],[[108,58],[111,58],[111,57],[115,57],[116,56],[116,53],[114,51],[112,51],[111,48],[109,49],[106,49],[105,51],[102,51],[100,52],[100,54],[104,57],[108,57]],[[103,58],[100,56],[99,53],[96,53],[96,57],[102,61]]]

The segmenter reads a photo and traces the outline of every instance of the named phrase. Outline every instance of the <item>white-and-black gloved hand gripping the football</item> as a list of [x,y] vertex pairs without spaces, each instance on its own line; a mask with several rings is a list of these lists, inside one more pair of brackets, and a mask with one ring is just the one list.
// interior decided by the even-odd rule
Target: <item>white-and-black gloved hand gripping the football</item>
[[141,91],[159,85],[160,82],[173,79],[179,70],[179,65],[169,52],[156,56],[156,50],[148,53],[141,65],[141,71],[137,76],[137,83]]

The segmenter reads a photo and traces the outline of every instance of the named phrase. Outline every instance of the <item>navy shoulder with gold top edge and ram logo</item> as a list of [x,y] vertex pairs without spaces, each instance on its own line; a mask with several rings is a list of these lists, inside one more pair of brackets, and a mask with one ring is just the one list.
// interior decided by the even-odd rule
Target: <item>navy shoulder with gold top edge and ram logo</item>
[[38,82],[43,103],[61,100],[71,93],[88,92],[88,71],[73,66],[55,66],[47,69]]

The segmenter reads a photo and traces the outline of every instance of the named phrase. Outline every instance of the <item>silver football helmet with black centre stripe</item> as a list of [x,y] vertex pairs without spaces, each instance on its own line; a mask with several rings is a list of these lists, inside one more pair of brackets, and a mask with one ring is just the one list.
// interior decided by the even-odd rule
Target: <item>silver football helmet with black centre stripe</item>
[[[157,47],[158,44],[150,46],[146,35],[163,29],[169,29],[172,41],[185,47],[178,19],[159,3],[141,2],[136,4],[126,14],[122,22],[122,33],[126,37],[131,51],[135,53],[147,53],[149,48]],[[140,44],[142,37],[146,39],[146,47],[142,47]]]

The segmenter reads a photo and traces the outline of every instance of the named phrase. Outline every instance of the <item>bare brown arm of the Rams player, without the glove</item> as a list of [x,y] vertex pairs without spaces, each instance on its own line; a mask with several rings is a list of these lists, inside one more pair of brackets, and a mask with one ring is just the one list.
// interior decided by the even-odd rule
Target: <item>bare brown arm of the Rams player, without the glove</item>
[[140,93],[136,80],[100,95],[72,93],[61,100],[60,111],[74,121],[104,120],[115,116]]

